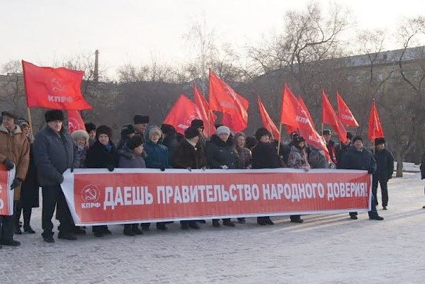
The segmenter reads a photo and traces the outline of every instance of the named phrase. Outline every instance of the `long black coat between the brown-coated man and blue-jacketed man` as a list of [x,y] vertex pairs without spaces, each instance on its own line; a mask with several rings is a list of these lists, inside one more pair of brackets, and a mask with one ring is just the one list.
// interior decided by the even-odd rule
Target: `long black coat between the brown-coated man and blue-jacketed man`
[[33,144],[30,144],[30,163],[25,180],[22,181],[20,205],[22,208],[39,207],[40,185],[37,180],[37,168],[35,167]]

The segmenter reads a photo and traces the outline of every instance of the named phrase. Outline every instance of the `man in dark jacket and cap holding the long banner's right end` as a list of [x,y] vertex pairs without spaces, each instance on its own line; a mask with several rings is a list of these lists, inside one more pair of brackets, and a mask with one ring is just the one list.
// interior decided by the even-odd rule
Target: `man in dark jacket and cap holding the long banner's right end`
[[[373,174],[376,171],[376,162],[372,152],[363,147],[363,140],[360,136],[353,138],[353,147],[348,149],[348,152],[342,157],[341,169],[358,169],[368,171],[369,174]],[[384,220],[383,217],[378,215],[376,211],[375,198],[372,194],[372,203],[369,213],[370,220]],[[353,220],[357,220],[357,212],[350,212],[350,217]]]

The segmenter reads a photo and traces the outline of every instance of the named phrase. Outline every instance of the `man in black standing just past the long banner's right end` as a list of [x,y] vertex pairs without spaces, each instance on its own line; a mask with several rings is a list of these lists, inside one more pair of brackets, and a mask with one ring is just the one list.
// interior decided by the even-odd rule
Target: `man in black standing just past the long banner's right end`
[[375,139],[375,160],[376,171],[373,174],[372,192],[375,196],[375,205],[378,205],[378,182],[380,183],[382,194],[382,209],[387,210],[388,205],[388,188],[387,182],[392,178],[394,172],[394,157],[390,151],[385,149],[385,139]]

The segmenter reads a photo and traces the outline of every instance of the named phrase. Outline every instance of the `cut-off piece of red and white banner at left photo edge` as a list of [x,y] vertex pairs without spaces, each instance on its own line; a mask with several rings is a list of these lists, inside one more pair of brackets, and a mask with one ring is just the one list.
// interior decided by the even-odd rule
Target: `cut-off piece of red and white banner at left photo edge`
[[15,177],[15,169],[6,171],[0,164],[0,215],[13,215],[13,191],[11,183]]

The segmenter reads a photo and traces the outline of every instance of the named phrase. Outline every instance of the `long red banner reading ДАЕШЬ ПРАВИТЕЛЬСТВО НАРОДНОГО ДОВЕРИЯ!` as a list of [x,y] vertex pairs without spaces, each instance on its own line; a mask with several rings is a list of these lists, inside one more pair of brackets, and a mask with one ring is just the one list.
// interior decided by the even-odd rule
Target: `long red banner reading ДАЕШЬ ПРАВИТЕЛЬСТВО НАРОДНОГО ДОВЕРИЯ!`
[[62,191],[76,225],[365,212],[366,171],[75,169]]

